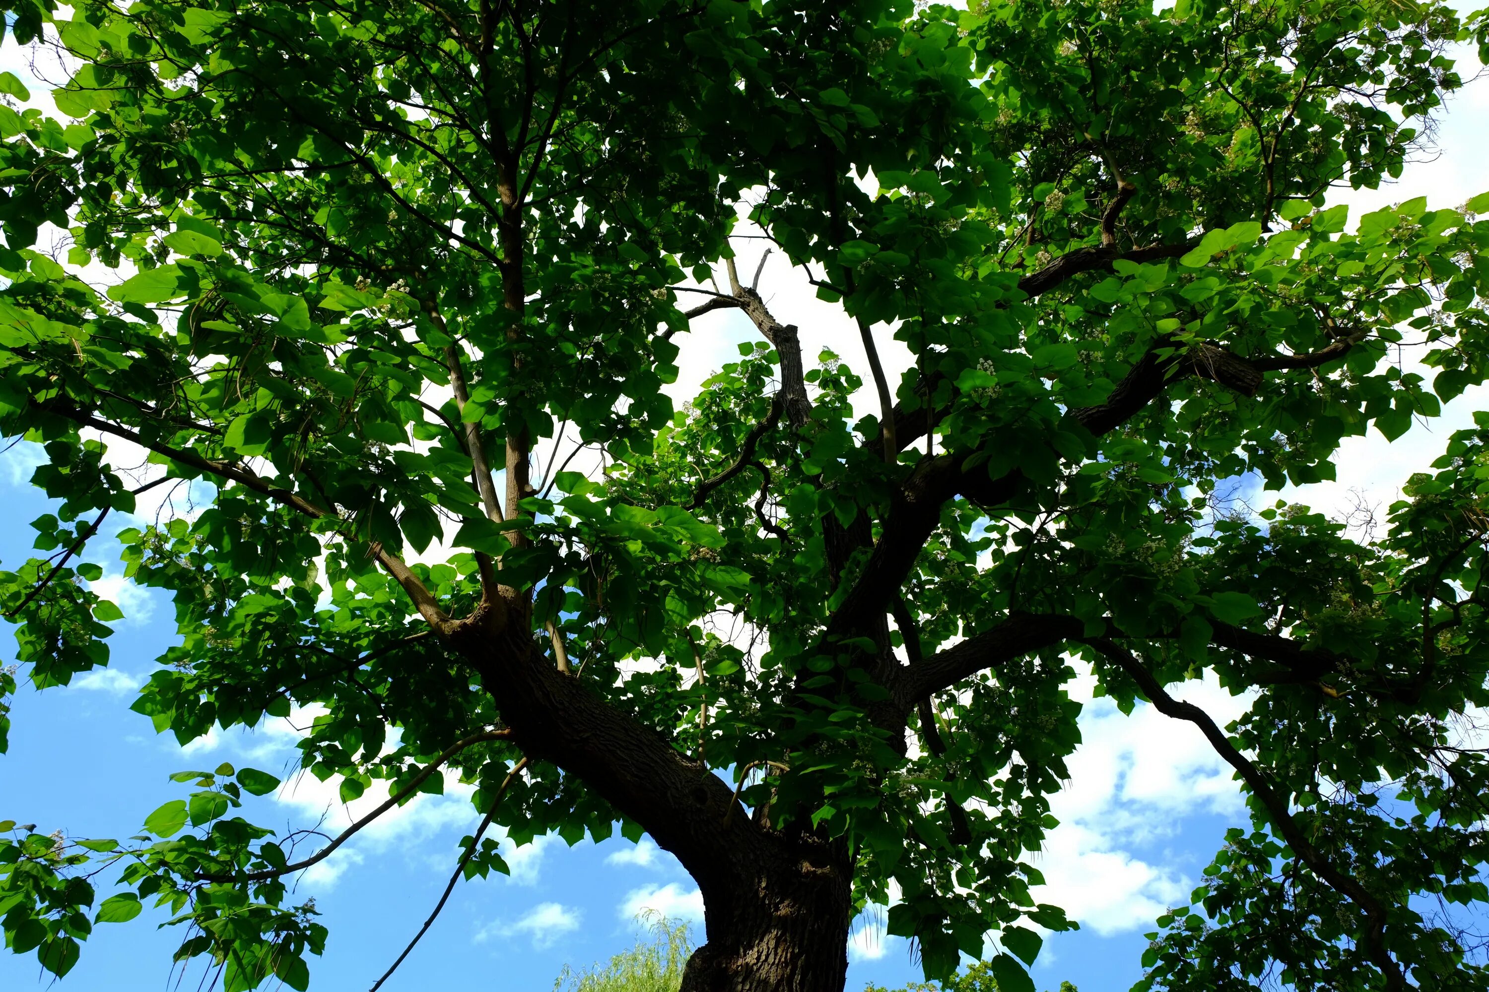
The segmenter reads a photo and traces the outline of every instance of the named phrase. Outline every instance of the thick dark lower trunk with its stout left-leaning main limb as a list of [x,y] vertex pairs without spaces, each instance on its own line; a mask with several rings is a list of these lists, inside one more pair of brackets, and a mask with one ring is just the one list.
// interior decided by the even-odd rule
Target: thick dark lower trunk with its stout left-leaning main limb
[[[518,745],[578,775],[677,857],[707,943],[683,992],[843,992],[853,867],[841,842],[755,822],[734,790],[481,611],[454,637]],[[493,629],[494,628],[494,629]]]

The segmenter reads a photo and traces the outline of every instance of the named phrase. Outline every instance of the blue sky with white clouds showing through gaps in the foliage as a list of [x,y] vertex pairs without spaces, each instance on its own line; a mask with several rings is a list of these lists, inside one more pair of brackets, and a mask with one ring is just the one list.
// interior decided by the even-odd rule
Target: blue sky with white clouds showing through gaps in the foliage
[[[1464,74],[1470,76],[1477,64],[1467,52],[1461,57]],[[31,77],[24,52],[9,36],[0,45],[0,68],[31,85],[39,103],[46,100],[45,85]],[[1489,190],[1485,120],[1489,80],[1479,80],[1449,106],[1435,155],[1413,162],[1394,186],[1348,192],[1334,202],[1351,204],[1358,217],[1421,193],[1428,195],[1429,207],[1444,207]],[[742,272],[755,271],[758,245],[746,241],[739,248]],[[814,299],[804,274],[773,256],[761,292],[779,320],[798,324],[809,361],[831,348],[856,369],[864,367],[856,327],[837,308]],[[716,311],[677,341],[682,373],[669,391],[680,405],[737,355],[737,344],[755,341],[755,332],[742,314]],[[879,348],[892,375],[908,366],[908,352],[887,333],[880,335]],[[1425,470],[1441,454],[1453,430],[1471,425],[1474,409],[1489,409],[1486,399],[1483,390],[1471,390],[1446,405],[1440,419],[1419,422],[1394,445],[1379,433],[1348,439],[1333,483],[1281,494],[1260,492],[1248,483],[1243,494],[1258,507],[1281,497],[1336,516],[1348,512],[1356,494],[1370,504],[1389,504],[1410,473]],[[4,568],[30,555],[31,529],[25,522],[54,509],[28,485],[37,455],[25,443],[0,455]],[[127,454],[116,457],[125,464]],[[546,458],[548,452],[541,451],[541,464]],[[141,516],[156,509],[141,506]],[[177,494],[176,504],[164,512],[191,510]],[[36,693],[22,686],[13,700],[10,751],[0,756],[0,819],[36,822],[43,831],[60,828],[77,837],[122,837],[134,833],[158,805],[185,796],[168,781],[171,772],[210,770],[222,761],[275,775],[287,775],[292,767],[295,726],[304,726],[313,714],[290,714],[253,732],[211,733],[182,748],[170,736],[156,736],[147,718],[128,711],[155,657],[174,642],[170,602],[121,577],[119,546],[112,534],[131,524],[137,521],[112,518],[100,535],[110,540],[95,538],[86,553],[104,567],[94,589],[125,613],[110,638],[112,662],[67,689]],[[0,623],[0,665],[13,657],[13,638]],[[1243,822],[1245,815],[1230,769],[1193,726],[1142,703],[1123,715],[1109,700],[1093,700],[1085,678],[1078,678],[1071,693],[1085,703],[1083,744],[1071,761],[1071,784],[1054,797],[1060,825],[1030,860],[1048,882],[1035,897],[1063,906],[1083,928],[1051,935],[1033,974],[1039,989],[1057,989],[1062,980],[1081,992],[1127,989],[1141,977],[1138,961],[1152,919],[1169,906],[1187,903],[1225,827]],[[1245,705],[1214,683],[1190,683],[1175,695],[1202,705],[1221,724]],[[381,799],[369,790],[348,809],[337,800],[334,785],[308,776],[289,779],[277,794],[252,800],[244,815],[275,828],[323,819],[325,828],[334,831]],[[311,989],[359,992],[374,983],[432,910],[459,857],[457,845],[476,819],[468,793],[451,784],[444,796],[421,796],[380,819],[298,879],[298,892],[316,900],[322,922],[331,928],[325,958],[311,961]],[[566,965],[585,968],[630,946],[640,934],[636,918],[642,912],[701,921],[697,888],[648,839],[639,845],[584,840],[569,848],[548,837],[517,851],[508,842],[503,846],[511,876],[457,886],[441,919],[386,989],[545,991]],[[881,913],[871,913],[859,921],[850,946],[850,991],[867,983],[895,988],[919,977],[910,946],[884,937],[881,919]],[[171,970],[170,955],[182,934],[152,925],[159,922],[164,916],[152,921],[146,913],[128,925],[97,927],[82,961],[60,988],[197,988],[200,965],[185,974]],[[698,933],[701,938],[701,927]],[[49,976],[33,955],[0,952],[0,989],[46,986]]]

